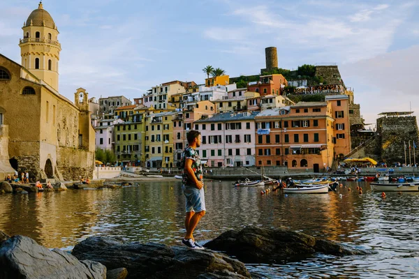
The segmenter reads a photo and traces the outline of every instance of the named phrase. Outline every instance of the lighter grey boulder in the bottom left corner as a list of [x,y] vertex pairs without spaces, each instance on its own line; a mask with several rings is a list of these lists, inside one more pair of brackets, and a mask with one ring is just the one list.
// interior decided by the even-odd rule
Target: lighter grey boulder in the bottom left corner
[[106,278],[106,267],[79,261],[67,252],[49,250],[27,236],[12,236],[0,246],[0,278]]

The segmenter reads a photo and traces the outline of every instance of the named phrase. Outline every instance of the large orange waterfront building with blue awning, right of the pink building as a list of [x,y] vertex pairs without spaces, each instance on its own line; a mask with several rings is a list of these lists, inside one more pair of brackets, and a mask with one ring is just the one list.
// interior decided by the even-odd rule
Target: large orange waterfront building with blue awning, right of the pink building
[[255,121],[256,166],[286,165],[320,172],[332,165],[332,102],[300,102],[263,110]]

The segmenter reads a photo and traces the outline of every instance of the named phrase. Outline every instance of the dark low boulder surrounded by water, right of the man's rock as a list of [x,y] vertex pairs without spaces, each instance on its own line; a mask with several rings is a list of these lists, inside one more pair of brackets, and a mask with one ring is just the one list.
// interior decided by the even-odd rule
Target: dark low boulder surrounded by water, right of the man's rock
[[316,252],[328,255],[367,255],[372,252],[351,248],[334,241],[317,240],[313,236],[287,229],[245,227],[224,232],[205,243],[206,248],[223,251],[242,262],[260,263],[298,259]]

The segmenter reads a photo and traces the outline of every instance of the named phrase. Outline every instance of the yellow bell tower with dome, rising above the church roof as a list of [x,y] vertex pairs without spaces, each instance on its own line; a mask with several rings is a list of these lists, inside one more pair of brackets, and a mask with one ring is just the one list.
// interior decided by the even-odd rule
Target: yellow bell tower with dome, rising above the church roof
[[58,91],[59,31],[42,1],[23,24],[20,40],[22,66]]

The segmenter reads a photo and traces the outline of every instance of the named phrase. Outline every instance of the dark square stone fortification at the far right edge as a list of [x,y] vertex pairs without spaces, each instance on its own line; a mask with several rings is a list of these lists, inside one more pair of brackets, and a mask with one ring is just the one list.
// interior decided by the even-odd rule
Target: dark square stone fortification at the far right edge
[[[381,158],[385,162],[404,163],[404,144],[406,144],[406,158],[409,164],[409,141],[411,144],[411,162],[413,163],[413,141],[418,146],[418,123],[416,116],[381,117],[377,119],[377,133]],[[418,153],[416,150],[416,153]],[[418,154],[416,154],[416,162]]]

